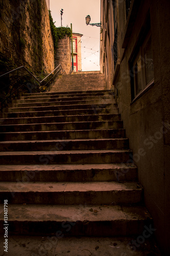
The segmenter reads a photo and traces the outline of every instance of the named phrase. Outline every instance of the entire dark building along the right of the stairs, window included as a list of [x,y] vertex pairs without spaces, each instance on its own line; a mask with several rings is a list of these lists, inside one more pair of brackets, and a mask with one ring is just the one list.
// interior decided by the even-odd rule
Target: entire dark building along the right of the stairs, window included
[[114,91],[164,255],[170,253],[169,11],[169,0],[101,0],[101,72]]

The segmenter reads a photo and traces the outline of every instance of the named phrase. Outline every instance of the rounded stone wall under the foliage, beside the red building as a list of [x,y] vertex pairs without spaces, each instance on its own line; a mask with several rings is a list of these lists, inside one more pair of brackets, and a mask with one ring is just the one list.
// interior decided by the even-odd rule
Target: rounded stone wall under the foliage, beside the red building
[[59,64],[61,64],[66,74],[68,74],[71,68],[71,44],[69,36],[59,39],[58,48],[55,53],[55,67]]

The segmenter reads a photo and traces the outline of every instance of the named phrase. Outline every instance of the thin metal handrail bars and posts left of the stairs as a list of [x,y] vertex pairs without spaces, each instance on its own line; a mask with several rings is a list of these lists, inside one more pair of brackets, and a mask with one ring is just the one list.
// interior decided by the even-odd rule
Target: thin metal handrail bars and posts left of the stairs
[[[5,74],[3,74],[3,75],[0,76],[0,79],[1,79],[2,77],[5,77],[6,75],[11,74],[12,72],[17,71],[17,79],[16,79],[15,81],[12,81],[10,84],[6,85],[6,86],[5,86],[4,88],[2,88],[0,91],[5,90],[5,88],[10,87],[12,83],[14,83],[14,82],[20,80],[21,78],[23,78],[23,77],[25,76],[25,75],[22,75],[21,77],[18,78],[18,71],[19,71],[20,69],[26,70],[26,71],[39,83],[39,88],[41,88],[42,91],[47,91],[48,89],[49,89],[49,91],[50,91],[51,80],[54,79],[54,77],[55,77],[56,75],[58,76],[61,72],[64,73],[64,74],[66,74],[66,73],[65,73],[65,70],[63,70],[61,64],[59,64],[50,74],[48,74],[45,78],[43,78],[43,79],[40,81],[40,80],[39,80],[37,77],[35,77],[25,66],[21,66],[21,67],[18,67],[18,68],[16,68],[16,69],[14,69],[14,70],[12,70],[12,71],[9,71],[9,72],[7,72],[7,73],[5,73]],[[56,73],[55,73],[55,72],[56,72]],[[55,73],[55,74],[53,74],[53,73]],[[50,78],[50,76],[51,76],[52,74],[53,74],[53,76]],[[43,85],[42,83],[43,83],[43,82],[45,81],[45,79],[47,79],[47,78],[49,78],[48,81]],[[49,85],[48,87],[46,87],[48,83],[50,83],[50,85]],[[4,102],[5,102],[7,99],[9,99],[16,91],[17,91],[17,95],[18,95],[18,90],[19,90],[19,88],[21,88],[21,87],[24,86],[24,85],[25,85],[25,84],[22,84],[21,86],[19,86],[12,94],[11,94],[11,92],[10,92],[10,95],[9,95],[6,99],[4,99],[1,103],[4,103]],[[13,88],[14,88],[14,86],[12,87],[12,89],[13,89]],[[43,89],[43,88],[45,88],[45,89]],[[11,89],[11,91],[12,91],[12,89]],[[41,92],[42,92],[42,91],[41,91]],[[2,108],[2,106],[1,106],[1,108]]]

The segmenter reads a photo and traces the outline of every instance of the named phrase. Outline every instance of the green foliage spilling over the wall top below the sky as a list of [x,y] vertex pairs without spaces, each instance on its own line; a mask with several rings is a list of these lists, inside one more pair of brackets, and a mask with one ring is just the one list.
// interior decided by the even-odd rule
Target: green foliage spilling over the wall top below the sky
[[51,15],[50,10],[49,10],[49,17],[50,17],[50,26],[51,26],[51,31],[53,35],[53,41],[54,41],[54,49],[56,50],[58,47],[58,40],[62,39],[65,35],[71,36],[71,29],[68,27],[56,28],[56,26],[54,25],[55,23],[53,22],[53,17]]

